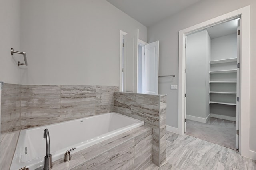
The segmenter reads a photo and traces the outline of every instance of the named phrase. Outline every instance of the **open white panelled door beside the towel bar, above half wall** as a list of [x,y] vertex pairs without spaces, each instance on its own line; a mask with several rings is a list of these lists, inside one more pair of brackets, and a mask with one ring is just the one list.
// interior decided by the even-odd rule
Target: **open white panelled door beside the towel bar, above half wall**
[[144,46],[144,93],[158,94],[159,41]]

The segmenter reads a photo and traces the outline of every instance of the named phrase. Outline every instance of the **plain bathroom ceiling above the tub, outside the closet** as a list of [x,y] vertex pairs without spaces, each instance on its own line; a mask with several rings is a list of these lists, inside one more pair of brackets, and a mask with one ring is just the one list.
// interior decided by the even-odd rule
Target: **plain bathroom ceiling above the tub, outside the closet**
[[163,20],[200,0],[107,0],[144,26]]

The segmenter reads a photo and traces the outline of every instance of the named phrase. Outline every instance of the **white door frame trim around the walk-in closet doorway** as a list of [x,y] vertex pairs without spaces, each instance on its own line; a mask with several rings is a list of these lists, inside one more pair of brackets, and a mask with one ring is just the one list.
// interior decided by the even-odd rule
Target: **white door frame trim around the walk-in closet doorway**
[[[239,102],[239,152],[250,157],[250,6],[240,8],[211,20],[179,31],[179,90],[178,90],[178,130],[184,135],[185,127],[185,37],[198,30],[232,20],[240,16],[240,102]],[[243,138],[241,138],[243,136]]]

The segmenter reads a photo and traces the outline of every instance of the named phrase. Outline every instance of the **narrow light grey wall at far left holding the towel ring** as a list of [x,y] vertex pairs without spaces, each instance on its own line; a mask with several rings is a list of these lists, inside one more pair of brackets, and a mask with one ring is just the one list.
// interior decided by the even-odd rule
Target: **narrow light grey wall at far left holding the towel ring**
[[24,62],[22,55],[10,53],[20,49],[20,1],[1,0],[0,2],[0,81],[19,83],[18,61]]

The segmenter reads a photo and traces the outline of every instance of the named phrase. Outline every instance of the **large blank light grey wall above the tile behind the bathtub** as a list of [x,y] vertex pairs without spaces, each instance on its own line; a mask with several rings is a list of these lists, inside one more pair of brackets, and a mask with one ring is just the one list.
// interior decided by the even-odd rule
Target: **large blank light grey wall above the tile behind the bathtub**
[[119,85],[120,30],[147,28],[106,0],[22,0],[22,84]]

